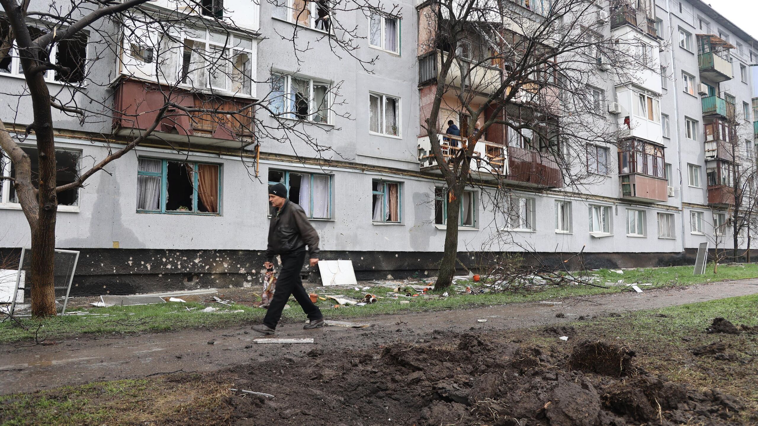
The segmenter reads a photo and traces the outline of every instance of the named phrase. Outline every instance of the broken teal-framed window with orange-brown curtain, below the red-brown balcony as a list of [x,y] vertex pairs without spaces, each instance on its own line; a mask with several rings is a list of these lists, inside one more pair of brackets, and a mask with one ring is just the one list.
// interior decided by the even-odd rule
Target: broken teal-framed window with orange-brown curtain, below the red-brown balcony
[[137,211],[218,214],[218,164],[138,159]]

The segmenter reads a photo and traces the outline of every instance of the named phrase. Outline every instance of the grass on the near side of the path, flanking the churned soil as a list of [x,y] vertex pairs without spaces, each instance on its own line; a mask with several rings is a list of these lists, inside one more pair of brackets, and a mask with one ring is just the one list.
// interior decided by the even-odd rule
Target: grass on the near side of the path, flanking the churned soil
[[[634,363],[638,367],[701,390],[718,388],[740,397],[746,405],[741,413],[743,424],[754,424],[750,416],[758,412],[758,365],[742,361],[758,354],[758,338],[705,334],[716,317],[735,324],[758,325],[758,295],[575,321],[569,324],[576,328],[569,342],[590,338],[627,343],[637,352]],[[540,328],[503,333],[516,335],[525,344],[571,350],[572,345],[546,338]],[[728,352],[738,354],[740,361],[692,355],[691,348],[718,340],[728,343]],[[216,412],[228,403],[224,397],[230,395],[227,388],[231,384],[215,377],[217,373],[177,374],[0,396],[0,424],[175,424],[168,421],[170,418],[176,424],[192,424],[189,413]]]

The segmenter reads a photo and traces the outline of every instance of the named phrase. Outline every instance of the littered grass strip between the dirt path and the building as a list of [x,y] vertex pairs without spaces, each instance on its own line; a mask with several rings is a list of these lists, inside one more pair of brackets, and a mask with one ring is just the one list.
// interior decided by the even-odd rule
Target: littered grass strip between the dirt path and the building
[[[693,275],[691,266],[677,266],[670,268],[641,268],[625,270],[623,274],[601,269],[589,271],[596,275],[596,284],[615,283],[624,280],[625,283],[652,283],[653,287],[672,287],[704,283],[716,280],[729,280],[740,278],[758,277],[758,265],[720,265],[719,274],[713,274],[713,268],[703,275]],[[421,284],[421,283],[419,283]],[[459,288],[470,286],[475,292],[485,290],[487,287],[479,283],[459,281]],[[368,290],[354,290],[352,287],[318,287],[317,293],[340,293],[344,296],[362,298],[365,293],[385,296],[387,287],[374,286]],[[644,290],[651,287],[644,287]],[[537,302],[547,299],[561,299],[566,297],[594,296],[598,294],[619,293],[627,290],[625,286],[609,287],[602,289],[591,286],[572,285],[567,287],[552,287],[542,291],[524,291],[508,293],[479,293],[460,294],[455,290],[449,290],[450,295],[442,298],[424,299],[423,296],[407,299],[379,299],[379,302],[365,306],[346,306],[333,309],[334,301],[318,302],[324,315],[331,319],[363,318],[372,315],[387,315],[403,312],[428,312],[448,309],[467,309],[481,305],[503,305],[518,302]],[[628,291],[628,290],[627,290]],[[401,303],[408,300],[409,303]],[[205,305],[196,302],[168,302],[160,305],[134,305],[112,306],[108,308],[93,308],[88,312],[99,314],[111,314],[108,317],[96,316],[58,316],[33,320],[22,318],[20,322],[24,327],[19,327],[12,321],[0,323],[0,343],[29,340],[35,337],[39,340],[57,339],[78,335],[121,335],[156,331],[180,330],[183,328],[198,327],[226,327],[233,324],[252,324],[262,321],[265,311],[253,309],[243,305],[224,306],[213,304],[216,307],[227,310],[242,310],[235,313],[198,312]],[[296,302],[290,301],[291,309],[286,309],[282,315],[282,321],[303,321],[302,309]],[[187,311],[187,308],[197,308]]]

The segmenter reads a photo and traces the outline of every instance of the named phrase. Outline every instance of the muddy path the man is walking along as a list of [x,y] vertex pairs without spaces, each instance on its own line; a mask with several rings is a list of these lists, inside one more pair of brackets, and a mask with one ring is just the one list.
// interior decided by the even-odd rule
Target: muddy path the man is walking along
[[[265,362],[272,357],[301,356],[311,349],[339,351],[423,338],[433,330],[462,331],[531,327],[574,321],[580,315],[656,309],[758,293],[758,280],[700,284],[683,290],[648,290],[584,299],[560,305],[539,302],[497,305],[445,312],[382,315],[365,320],[371,328],[327,327],[302,330],[284,324],[277,337],[313,337],[315,344],[255,344],[248,324],[216,330],[183,330],[120,338],[78,338],[55,346],[0,345],[0,394],[31,392],[67,384],[145,377],[161,372],[216,371],[232,365]],[[565,318],[556,318],[562,312]],[[480,323],[478,319],[486,319]],[[208,342],[214,341],[214,344]]]

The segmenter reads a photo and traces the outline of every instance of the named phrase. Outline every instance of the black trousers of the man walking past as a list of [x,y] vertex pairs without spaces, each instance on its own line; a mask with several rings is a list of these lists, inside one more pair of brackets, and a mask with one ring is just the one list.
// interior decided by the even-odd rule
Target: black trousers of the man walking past
[[308,296],[308,292],[302,287],[300,270],[302,269],[302,263],[305,262],[305,250],[280,255],[280,258],[282,259],[282,268],[277,278],[274,299],[271,299],[271,305],[268,305],[268,312],[266,312],[266,316],[263,318],[263,324],[271,328],[277,327],[284,305],[290,299],[290,294],[295,296],[295,300],[302,306],[302,310],[308,315],[309,320],[314,321],[323,318],[321,310],[311,302],[311,297]]

